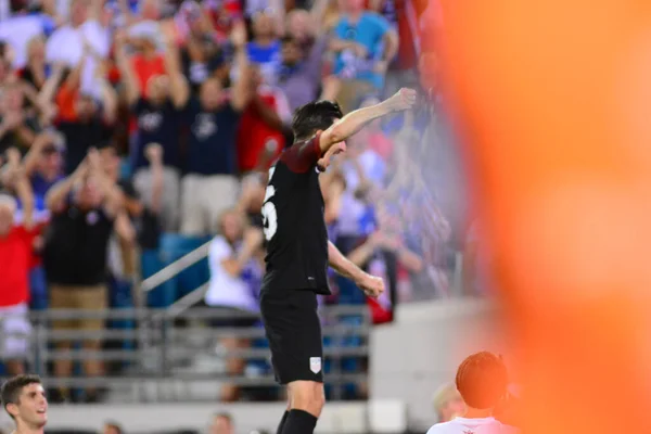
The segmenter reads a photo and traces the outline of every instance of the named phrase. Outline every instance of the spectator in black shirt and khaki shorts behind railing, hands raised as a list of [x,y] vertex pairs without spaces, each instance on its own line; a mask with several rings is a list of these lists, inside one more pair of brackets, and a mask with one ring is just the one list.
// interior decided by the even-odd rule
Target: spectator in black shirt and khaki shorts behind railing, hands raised
[[[105,176],[100,155],[91,150],[86,161],[48,193],[52,219],[44,241],[43,264],[53,309],[102,311],[107,306],[106,258],[107,245],[115,217],[122,207],[122,193]],[[68,318],[55,320],[54,330],[100,331],[101,318]],[[86,350],[97,352],[101,340],[84,342]],[[69,350],[72,343],[60,341],[58,348]],[[92,356],[92,355],[91,355]],[[71,376],[71,360],[55,360],[54,374]],[[103,373],[103,363],[87,359],[87,376]],[[59,390],[59,399],[67,399],[69,391]],[[87,399],[98,398],[97,391],[87,390]]]

